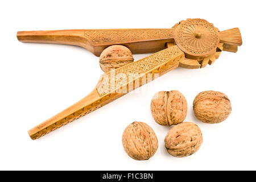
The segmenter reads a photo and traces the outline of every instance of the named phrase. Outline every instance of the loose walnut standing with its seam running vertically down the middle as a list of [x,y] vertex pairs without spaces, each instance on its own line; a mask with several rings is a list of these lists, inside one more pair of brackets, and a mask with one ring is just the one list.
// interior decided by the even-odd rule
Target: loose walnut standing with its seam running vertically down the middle
[[160,91],[151,100],[151,113],[159,125],[177,125],[187,115],[187,100],[177,90]]

